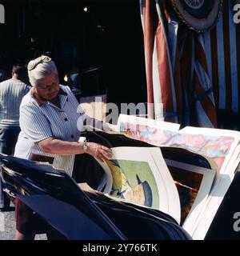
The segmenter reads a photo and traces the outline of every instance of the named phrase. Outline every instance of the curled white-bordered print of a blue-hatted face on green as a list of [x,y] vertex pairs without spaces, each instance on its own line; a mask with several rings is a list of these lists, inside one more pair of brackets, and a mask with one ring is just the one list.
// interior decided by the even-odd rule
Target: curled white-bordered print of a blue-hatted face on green
[[99,162],[110,194],[170,214],[180,223],[180,202],[174,180],[158,147],[115,147],[113,158]]

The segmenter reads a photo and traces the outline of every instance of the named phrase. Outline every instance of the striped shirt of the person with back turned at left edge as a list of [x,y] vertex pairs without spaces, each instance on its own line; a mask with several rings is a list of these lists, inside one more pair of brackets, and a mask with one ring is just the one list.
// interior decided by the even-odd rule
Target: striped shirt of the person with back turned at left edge
[[0,128],[19,126],[19,106],[30,86],[11,78],[0,83]]

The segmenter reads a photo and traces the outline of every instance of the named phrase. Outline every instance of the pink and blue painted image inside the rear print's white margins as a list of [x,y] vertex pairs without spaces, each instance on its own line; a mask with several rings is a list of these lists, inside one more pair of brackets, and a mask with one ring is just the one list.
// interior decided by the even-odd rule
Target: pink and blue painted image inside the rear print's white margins
[[120,123],[120,131],[130,138],[155,146],[183,147],[196,154],[212,158],[219,170],[234,143],[234,137],[230,136],[182,134],[172,130],[162,130],[126,122]]

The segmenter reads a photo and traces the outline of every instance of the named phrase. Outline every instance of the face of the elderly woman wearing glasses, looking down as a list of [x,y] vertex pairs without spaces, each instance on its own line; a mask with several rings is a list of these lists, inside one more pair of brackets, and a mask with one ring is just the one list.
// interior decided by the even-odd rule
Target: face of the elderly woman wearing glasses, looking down
[[38,80],[35,86],[38,95],[47,101],[52,101],[58,97],[59,80],[57,74],[49,74],[45,78]]

